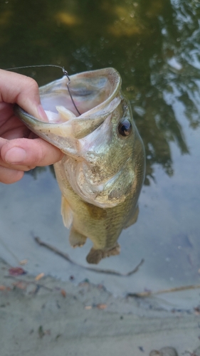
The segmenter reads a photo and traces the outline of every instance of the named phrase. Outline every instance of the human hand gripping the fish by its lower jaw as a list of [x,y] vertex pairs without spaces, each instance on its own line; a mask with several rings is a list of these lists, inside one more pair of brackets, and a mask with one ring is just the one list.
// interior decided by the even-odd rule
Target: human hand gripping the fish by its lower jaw
[[19,181],[29,169],[63,157],[57,147],[38,138],[14,115],[15,103],[46,121],[36,81],[0,69],[0,182],[6,184]]

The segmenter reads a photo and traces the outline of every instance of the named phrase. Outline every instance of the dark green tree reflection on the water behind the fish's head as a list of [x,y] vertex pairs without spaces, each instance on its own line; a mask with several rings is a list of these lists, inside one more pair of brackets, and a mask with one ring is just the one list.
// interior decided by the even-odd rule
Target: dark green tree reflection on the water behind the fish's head
[[[173,174],[170,142],[189,153],[182,119],[199,126],[199,1],[25,0],[0,4],[0,66],[53,63],[69,73],[112,66],[122,76],[147,153]],[[21,70],[39,85],[56,68]]]

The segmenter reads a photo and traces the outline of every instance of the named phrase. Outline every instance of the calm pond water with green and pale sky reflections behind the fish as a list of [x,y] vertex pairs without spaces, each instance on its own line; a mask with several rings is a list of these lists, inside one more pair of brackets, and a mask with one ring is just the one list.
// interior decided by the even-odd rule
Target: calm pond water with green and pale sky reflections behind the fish
[[[199,1],[16,0],[0,9],[1,68],[52,63],[69,74],[116,68],[147,155],[137,224],[122,232],[120,256],[99,265],[127,272],[144,258],[135,275],[86,272],[36,245],[33,236],[40,236],[87,266],[90,241],[70,248],[48,168],[1,184],[1,257],[14,266],[28,258],[30,273],[73,276],[74,283],[88,278],[115,295],[199,284]],[[39,85],[62,75],[56,68],[20,73]],[[200,303],[198,290],[163,300],[181,308]]]

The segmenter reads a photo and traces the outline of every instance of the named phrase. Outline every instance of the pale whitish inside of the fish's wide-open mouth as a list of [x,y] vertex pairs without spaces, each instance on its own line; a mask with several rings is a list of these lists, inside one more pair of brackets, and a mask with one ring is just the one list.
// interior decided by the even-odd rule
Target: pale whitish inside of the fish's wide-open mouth
[[71,75],[70,85],[64,76],[40,88],[41,103],[48,112],[58,113],[56,106],[63,106],[75,116],[80,116],[90,110],[99,111],[107,105],[115,98],[120,84],[120,75],[114,68]]

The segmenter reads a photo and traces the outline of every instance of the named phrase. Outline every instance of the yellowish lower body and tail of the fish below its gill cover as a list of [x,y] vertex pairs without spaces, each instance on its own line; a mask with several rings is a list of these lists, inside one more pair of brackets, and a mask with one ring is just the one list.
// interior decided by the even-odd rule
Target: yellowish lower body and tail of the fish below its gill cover
[[[87,238],[93,242],[87,261],[98,263],[101,258],[120,253],[117,239],[127,220],[121,204],[102,209],[83,201],[71,188],[62,161],[54,164],[56,179],[62,193],[61,213],[65,226],[70,228],[70,245],[83,246]],[[124,204],[124,203],[122,203]],[[125,211],[125,216],[122,216]]]

